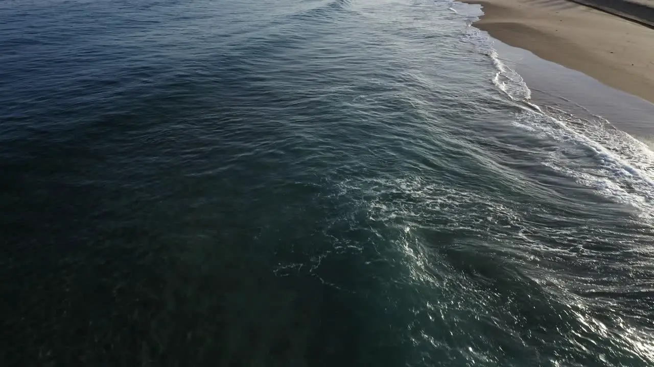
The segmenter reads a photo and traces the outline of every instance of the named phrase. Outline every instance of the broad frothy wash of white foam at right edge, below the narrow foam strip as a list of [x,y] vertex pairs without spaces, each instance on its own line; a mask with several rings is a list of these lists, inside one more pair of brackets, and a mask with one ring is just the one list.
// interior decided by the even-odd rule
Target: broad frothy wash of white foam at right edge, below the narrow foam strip
[[632,136],[610,125],[555,113],[524,111],[515,125],[560,145],[543,165],[596,189],[599,195],[628,204],[638,214],[654,218],[654,154]]

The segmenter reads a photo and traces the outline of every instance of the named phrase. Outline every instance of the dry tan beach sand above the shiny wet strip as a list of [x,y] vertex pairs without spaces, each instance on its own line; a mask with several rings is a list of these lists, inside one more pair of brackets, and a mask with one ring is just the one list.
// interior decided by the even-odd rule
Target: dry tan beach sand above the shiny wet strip
[[654,103],[653,28],[566,0],[465,2],[492,37]]

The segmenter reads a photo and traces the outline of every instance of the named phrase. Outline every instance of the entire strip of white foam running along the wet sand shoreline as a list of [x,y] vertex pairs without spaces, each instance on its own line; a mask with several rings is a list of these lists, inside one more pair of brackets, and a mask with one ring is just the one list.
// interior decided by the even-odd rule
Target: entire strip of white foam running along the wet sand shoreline
[[[470,17],[472,25],[477,18],[474,14]],[[654,153],[647,144],[613,128],[600,116],[583,119],[533,103],[525,80],[498,55],[487,33],[470,26],[464,38],[489,57],[495,69],[492,83],[521,108],[514,124],[559,143],[543,165],[654,219]]]

